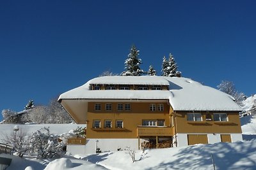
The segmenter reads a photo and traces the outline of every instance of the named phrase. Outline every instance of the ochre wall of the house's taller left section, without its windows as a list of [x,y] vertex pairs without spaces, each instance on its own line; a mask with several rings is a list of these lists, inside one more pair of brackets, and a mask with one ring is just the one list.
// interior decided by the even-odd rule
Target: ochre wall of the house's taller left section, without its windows
[[[95,104],[101,104],[101,110],[95,110]],[[112,110],[106,111],[106,104],[112,104]],[[118,111],[117,104],[122,103],[88,103],[87,113],[87,135],[86,138],[137,138],[137,129],[143,120],[164,120],[164,126],[170,127],[170,115],[167,101],[157,103],[148,101],[147,103],[129,103],[130,111]],[[163,104],[163,111],[150,111],[150,104]],[[93,121],[100,120],[100,128],[93,128]],[[111,128],[104,128],[105,120],[111,120]],[[123,121],[123,128],[116,127],[116,120]],[[150,127],[148,127],[150,128]],[[150,130],[149,130],[150,131]]]

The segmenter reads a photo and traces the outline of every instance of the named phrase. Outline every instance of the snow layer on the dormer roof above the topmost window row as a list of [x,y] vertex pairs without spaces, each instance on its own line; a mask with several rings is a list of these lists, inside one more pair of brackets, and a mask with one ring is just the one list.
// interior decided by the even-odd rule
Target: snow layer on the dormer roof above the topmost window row
[[169,82],[159,76],[102,76],[93,78],[89,84],[105,85],[169,85]]

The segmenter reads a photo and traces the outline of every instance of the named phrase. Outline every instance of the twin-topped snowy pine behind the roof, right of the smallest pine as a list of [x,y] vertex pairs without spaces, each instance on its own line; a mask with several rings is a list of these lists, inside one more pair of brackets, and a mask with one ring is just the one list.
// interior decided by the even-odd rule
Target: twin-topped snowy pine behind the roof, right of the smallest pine
[[175,76],[177,73],[177,64],[174,60],[172,53],[169,55],[169,59],[166,60],[166,57],[163,57],[163,64],[162,64],[162,76]]

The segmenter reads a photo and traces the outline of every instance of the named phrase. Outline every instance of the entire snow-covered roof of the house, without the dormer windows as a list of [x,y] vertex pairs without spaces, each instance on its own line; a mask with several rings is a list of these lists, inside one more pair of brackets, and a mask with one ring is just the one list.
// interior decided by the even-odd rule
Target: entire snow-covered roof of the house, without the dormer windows
[[[90,84],[168,85],[170,90],[90,90]],[[166,99],[177,111],[240,111],[234,98],[189,78],[103,76],[61,94],[60,99]]]

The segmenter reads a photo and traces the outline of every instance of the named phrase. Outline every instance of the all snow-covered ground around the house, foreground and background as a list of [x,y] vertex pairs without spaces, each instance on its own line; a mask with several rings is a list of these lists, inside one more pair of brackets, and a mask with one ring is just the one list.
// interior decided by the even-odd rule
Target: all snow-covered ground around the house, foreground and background
[[[243,136],[256,136],[256,119],[253,117],[241,118]],[[22,125],[28,131],[36,131],[41,127],[50,127],[54,134],[67,133],[76,129],[76,124],[58,125]],[[0,125],[1,132],[11,132],[14,125]],[[213,145],[193,145],[179,148],[165,148],[137,150],[136,161],[126,150],[118,152],[104,152],[93,155],[66,155],[55,160],[36,160],[12,157],[12,164],[8,170],[19,169],[213,169],[212,158],[216,169],[256,169],[256,140],[237,143],[216,143]]]

